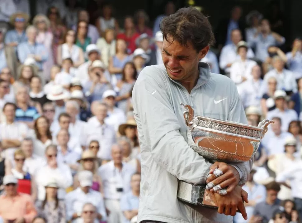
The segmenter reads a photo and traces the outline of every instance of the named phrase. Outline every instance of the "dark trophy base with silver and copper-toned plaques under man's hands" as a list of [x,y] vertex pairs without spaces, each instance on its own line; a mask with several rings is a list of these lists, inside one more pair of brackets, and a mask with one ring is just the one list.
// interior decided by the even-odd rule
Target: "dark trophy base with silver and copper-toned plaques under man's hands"
[[[214,192],[205,189],[202,185],[192,185],[184,181],[179,181],[177,198],[197,206],[218,209]],[[237,209],[237,212],[240,212]]]

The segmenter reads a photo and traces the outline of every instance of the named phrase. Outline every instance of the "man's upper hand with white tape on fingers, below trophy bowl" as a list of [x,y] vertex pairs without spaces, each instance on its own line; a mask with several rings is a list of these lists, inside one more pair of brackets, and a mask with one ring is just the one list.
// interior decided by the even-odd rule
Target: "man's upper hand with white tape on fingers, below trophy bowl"
[[[215,162],[210,167],[210,174],[206,180],[206,189],[212,192],[217,191],[221,195],[233,191],[240,180],[236,168],[225,162]],[[226,191],[220,191],[222,188],[226,188]]]

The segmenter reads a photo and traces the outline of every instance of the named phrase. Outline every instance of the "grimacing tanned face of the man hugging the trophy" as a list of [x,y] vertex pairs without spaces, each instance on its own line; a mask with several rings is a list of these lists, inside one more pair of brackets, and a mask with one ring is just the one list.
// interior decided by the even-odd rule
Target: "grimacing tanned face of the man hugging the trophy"
[[201,50],[197,53],[191,43],[188,46],[182,46],[179,42],[173,41],[168,36],[168,41],[163,40],[162,58],[166,67],[168,76],[172,80],[191,82],[192,75],[197,72],[198,62],[205,56],[207,50]]

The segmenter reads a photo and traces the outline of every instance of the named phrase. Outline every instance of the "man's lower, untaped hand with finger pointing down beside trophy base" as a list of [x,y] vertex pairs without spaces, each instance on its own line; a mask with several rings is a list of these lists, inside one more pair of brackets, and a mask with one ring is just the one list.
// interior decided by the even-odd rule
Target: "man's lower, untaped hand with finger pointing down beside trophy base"
[[248,203],[248,193],[240,186],[237,185],[233,191],[226,195],[219,195],[218,193],[214,194],[219,214],[235,216],[238,208],[243,218],[245,220],[248,219],[248,215],[243,204],[243,201]]

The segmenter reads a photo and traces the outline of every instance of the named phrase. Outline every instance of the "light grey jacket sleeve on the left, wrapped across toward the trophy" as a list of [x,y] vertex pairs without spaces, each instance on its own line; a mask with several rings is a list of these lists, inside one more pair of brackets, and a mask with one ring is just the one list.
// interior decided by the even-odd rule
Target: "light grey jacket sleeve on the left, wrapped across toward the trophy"
[[150,147],[153,161],[177,179],[204,184],[210,164],[180,134],[184,120],[177,119],[163,80],[151,76],[156,72],[153,66],[144,68],[132,92],[139,132],[147,138],[141,144]]

